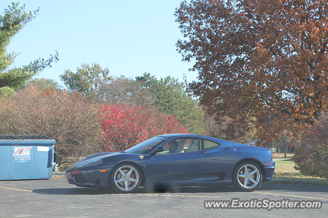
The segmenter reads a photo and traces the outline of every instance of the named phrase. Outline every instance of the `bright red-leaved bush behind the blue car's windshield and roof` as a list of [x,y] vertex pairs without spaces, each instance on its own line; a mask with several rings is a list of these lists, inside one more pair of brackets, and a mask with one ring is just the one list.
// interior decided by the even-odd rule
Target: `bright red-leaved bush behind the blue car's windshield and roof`
[[109,151],[125,150],[161,134],[189,133],[174,116],[153,107],[104,104],[99,108],[99,118]]

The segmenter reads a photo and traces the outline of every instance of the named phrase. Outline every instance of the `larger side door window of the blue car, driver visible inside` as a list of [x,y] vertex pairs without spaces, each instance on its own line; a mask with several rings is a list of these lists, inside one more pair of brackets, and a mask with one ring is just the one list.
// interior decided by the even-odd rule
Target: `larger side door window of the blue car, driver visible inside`
[[199,150],[199,139],[181,138],[174,139],[163,144],[164,151],[158,152],[157,155],[171,155]]

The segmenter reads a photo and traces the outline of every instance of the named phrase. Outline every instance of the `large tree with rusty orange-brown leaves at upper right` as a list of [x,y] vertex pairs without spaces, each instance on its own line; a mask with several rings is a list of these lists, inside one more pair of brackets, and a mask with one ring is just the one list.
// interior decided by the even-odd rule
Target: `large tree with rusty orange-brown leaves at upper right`
[[328,101],[328,3],[191,0],[176,10],[177,48],[199,73],[189,89],[217,122],[262,139],[313,124]]

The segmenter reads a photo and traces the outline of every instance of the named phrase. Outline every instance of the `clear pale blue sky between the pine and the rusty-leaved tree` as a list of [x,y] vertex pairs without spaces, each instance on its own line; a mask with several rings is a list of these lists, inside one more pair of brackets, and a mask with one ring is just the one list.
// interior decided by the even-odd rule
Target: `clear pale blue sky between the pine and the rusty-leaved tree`
[[[1,13],[12,1],[2,0]],[[14,66],[38,57],[48,58],[57,50],[59,61],[37,78],[50,78],[63,85],[59,75],[75,71],[81,63],[98,62],[111,75],[135,77],[144,72],[157,78],[173,76],[188,81],[192,63],[182,62],[175,43],[182,38],[173,15],[179,0],[167,1],[20,1],[27,10],[40,8],[8,46],[19,52]]]

